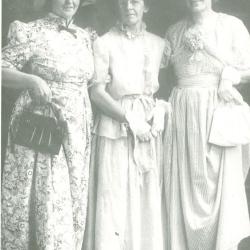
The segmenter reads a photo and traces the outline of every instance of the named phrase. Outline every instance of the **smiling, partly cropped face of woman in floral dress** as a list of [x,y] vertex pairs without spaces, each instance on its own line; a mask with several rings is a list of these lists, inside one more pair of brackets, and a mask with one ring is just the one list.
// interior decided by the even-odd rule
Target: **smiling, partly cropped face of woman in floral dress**
[[80,0],[52,0],[52,11],[66,19],[71,19],[80,4]]

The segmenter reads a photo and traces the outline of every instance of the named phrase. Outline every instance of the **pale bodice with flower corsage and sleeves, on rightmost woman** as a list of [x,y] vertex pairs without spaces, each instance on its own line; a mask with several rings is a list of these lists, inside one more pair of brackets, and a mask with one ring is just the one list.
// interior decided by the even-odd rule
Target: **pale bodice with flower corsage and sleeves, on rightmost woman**
[[188,19],[171,26],[166,34],[177,79],[198,75],[220,78],[225,65],[250,67],[248,32],[242,21],[222,13],[214,13],[206,27],[192,27]]

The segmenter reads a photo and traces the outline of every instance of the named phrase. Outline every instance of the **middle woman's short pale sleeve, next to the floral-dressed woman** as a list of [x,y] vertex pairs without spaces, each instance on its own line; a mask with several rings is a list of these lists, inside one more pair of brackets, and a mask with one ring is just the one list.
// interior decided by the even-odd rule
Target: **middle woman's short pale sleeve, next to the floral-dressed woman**
[[93,84],[106,84],[110,81],[109,52],[102,38],[97,38],[93,45],[95,72]]

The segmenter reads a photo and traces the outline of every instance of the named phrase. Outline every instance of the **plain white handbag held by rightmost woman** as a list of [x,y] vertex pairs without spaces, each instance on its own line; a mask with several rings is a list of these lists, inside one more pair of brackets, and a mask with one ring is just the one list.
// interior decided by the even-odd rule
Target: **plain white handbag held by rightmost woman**
[[214,111],[209,140],[222,147],[250,143],[250,107],[220,103]]

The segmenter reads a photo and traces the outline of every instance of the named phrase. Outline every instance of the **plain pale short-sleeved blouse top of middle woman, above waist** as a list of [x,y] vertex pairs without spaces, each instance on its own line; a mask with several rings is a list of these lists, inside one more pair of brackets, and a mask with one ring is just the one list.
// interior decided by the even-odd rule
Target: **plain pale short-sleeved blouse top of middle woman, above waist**
[[[158,72],[164,50],[162,38],[145,31],[135,39],[128,39],[118,28],[98,38],[94,43],[95,75],[97,84],[111,81],[107,91],[115,99],[124,95],[154,94],[158,88]],[[150,70],[150,86],[145,85],[145,57]]]

